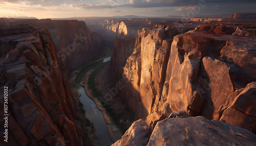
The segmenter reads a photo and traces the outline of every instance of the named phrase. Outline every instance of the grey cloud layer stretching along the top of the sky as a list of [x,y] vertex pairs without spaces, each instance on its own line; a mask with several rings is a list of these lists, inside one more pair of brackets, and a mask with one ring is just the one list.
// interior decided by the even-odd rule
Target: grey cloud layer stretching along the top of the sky
[[[116,7],[133,7],[133,8],[153,8],[153,7],[180,7],[178,11],[187,11],[193,9],[193,6],[204,2],[207,5],[213,5],[215,7],[222,4],[254,4],[255,0],[108,0],[108,1],[96,1],[97,3],[84,3],[81,4],[81,0],[26,0],[26,1],[14,1],[14,0],[2,0],[3,2],[24,4],[28,6],[40,6],[40,7],[53,7],[53,6],[71,6],[73,8],[80,9],[104,9],[104,8],[116,8]],[[86,1],[88,2],[88,1]],[[79,3],[79,4],[77,4]],[[217,5],[218,4],[218,5]]]

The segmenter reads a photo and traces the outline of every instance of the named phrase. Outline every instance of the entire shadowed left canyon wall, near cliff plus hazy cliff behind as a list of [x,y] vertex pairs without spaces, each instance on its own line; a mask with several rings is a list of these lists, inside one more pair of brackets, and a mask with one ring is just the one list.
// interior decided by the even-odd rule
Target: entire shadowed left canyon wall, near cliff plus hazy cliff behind
[[[68,71],[99,57],[98,34],[76,20],[0,22],[0,106],[8,87],[8,144],[87,145]],[[1,121],[0,143],[4,130]]]

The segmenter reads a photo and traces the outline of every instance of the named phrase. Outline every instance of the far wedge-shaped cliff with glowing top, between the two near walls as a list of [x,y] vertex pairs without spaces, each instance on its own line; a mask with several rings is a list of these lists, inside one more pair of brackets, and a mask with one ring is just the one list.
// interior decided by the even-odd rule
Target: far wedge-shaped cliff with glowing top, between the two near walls
[[126,60],[132,55],[134,48],[137,47],[136,42],[140,39],[138,33],[141,33],[138,30],[142,29],[143,26],[148,27],[152,25],[148,25],[147,21],[122,20],[112,26],[114,28],[118,26],[114,31],[116,35],[111,58],[111,70],[114,75],[114,81],[118,82]]

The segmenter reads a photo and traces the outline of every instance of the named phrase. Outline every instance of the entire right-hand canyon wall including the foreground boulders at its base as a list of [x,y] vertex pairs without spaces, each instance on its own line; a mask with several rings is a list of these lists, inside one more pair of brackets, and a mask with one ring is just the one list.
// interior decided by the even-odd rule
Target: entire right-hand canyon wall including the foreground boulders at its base
[[117,98],[139,120],[113,145],[254,145],[255,32],[177,24],[139,30],[122,75],[114,74]]

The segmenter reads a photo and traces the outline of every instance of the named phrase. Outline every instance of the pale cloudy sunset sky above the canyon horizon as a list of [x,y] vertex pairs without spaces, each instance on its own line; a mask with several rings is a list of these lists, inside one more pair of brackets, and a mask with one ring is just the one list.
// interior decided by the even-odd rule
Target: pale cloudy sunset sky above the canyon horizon
[[166,15],[195,17],[256,13],[255,0],[0,0],[0,17],[112,17]]

